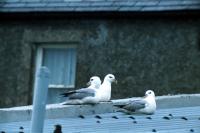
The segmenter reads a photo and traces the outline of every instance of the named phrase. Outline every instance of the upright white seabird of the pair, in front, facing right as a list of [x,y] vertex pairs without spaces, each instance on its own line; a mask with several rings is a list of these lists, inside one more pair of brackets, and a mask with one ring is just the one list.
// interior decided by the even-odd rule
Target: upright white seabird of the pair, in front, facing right
[[111,98],[111,84],[115,82],[117,83],[117,80],[115,79],[115,76],[113,74],[107,74],[104,78],[103,83],[99,87],[99,101],[106,102],[110,101]]

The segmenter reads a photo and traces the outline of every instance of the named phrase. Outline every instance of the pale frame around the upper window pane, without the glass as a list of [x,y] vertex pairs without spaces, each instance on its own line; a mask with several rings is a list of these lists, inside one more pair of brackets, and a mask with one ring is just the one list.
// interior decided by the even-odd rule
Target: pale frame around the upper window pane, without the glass
[[[39,68],[42,66],[42,62],[43,62],[43,54],[44,54],[44,49],[45,48],[52,48],[52,49],[67,49],[67,48],[77,48],[76,45],[73,44],[39,44],[37,47],[37,52],[36,52],[36,72],[35,72],[35,76],[37,71],[39,70]],[[75,71],[74,71],[74,84],[73,85],[54,85],[54,84],[49,84],[48,88],[75,88],[75,79],[76,79],[76,64],[77,64],[77,59],[76,59],[76,55],[75,55]]]

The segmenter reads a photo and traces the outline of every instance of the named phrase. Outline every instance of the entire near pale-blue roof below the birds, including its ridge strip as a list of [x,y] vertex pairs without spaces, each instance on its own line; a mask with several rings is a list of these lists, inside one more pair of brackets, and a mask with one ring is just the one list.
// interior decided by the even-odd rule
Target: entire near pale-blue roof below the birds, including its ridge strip
[[[95,106],[47,105],[44,132],[53,132],[56,124],[62,125],[64,133],[200,132],[197,124],[200,122],[200,94],[157,96],[158,109],[154,115],[125,115],[113,108],[113,104],[131,99],[135,98],[112,100],[112,103]],[[0,132],[17,133],[21,126],[29,132],[31,110],[32,106],[0,109]]]

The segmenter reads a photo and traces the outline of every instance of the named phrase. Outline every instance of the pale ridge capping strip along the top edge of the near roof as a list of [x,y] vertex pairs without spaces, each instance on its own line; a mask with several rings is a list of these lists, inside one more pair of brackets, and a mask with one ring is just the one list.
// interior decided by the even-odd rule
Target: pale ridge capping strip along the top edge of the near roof
[[[76,117],[79,115],[92,115],[102,113],[113,113],[113,104],[126,103],[129,100],[138,99],[137,97],[112,100],[96,105],[61,105],[49,104],[46,106],[46,119]],[[181,101],[181,102],[180,102]],[[181,108],[200,106],[200,94],[184,94],[174,96],[157,96],[156,102],[158,109]],[[2,108],[0,109],[0,123],[14,121],[29,121],[32,114],[32,105]]]

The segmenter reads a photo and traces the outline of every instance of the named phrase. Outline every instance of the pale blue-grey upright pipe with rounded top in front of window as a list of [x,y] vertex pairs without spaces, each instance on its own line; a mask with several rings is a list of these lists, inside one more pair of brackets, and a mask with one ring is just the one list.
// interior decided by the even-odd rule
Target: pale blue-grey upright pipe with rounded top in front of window
[[45,119],[46,100],[49,85],[49,69],[41,67],[36,74],[34,84],[31,133],[42,133]]

